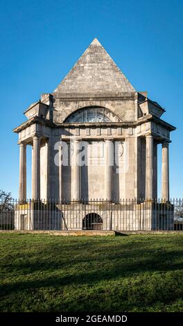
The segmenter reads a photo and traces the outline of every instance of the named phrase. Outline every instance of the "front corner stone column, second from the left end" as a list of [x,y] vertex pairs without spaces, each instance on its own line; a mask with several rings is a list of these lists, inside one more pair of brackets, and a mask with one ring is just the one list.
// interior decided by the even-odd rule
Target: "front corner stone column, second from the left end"
[[40,199],[40,138],[33,137],[32,198]]

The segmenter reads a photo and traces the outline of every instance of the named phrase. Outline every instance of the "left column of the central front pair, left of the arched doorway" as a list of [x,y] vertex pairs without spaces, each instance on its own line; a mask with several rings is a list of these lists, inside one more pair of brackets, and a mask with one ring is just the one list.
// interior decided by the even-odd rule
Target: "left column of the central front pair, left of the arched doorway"
[[73,141],[73,199],[80,200],[80,165],[78,160],[79,141]]

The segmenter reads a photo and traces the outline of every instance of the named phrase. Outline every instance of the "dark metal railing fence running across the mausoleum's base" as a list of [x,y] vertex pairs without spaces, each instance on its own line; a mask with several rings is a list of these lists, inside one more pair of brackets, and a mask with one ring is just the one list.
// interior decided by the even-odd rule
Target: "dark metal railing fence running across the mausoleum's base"
[[2,200],[0,230],[182,231],[183,199]]

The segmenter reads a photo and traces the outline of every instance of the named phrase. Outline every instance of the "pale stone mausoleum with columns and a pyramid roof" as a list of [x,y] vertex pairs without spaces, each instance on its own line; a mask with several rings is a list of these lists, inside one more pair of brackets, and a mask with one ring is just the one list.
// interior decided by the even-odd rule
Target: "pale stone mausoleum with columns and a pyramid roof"
[[[92,205],[95,212],[98,209],[96,198],[110,203],[110,216],[112,212],[119,216],[118,222],[107,222],[107,218],[110,220],[107,213],[97,215],[100,225],[105,223],[110,228],[109,223],[113,223],[115,230],[127,230],[131,225],[129,218],[133,224],[136,218],[126,205],[127,217],[125,223],[122,221],[123,198],[138,199],[136,215],[137,211],[143,211],[145,202],[152,212],[153,201],[157,198],[158,144],[162,144],[162,198],[168,203],[168,146],[175,127],[162,120],[164,112],[164,108],[148,98],[147,92],[134,89],[94,39],[60,85],[30,105],[24,112],[26,122],[14,130],[19,135],[22,207],[26,207],[26,146],[32,146],[32,199],[34,203],[42,200],[42,205],[46,205],[49,198],[53,198],[58,203],[55,216],[61,214],[67,228],[76,228],[76,212],[80,212],[78,229],[83,228],[86,209],[89,214],[94,214]],[[84,150],[82,164],[78,164],[77,155]],[[62,210],[65,200],[67,212]],[[88,200],[93,200],[92,205],[89,206]],[[21,215],[26,216],[26,228],[37,228],[37,208],[31,205],[29,214],[23,212]],[[17,228],[20,228],[21,218],[17,221]],[[150,214],[146,222],[148,229],[153,228],[152,221]],[[132,229],[138,229],[138,223]],[[63,228],[62,221],[59,228]]]

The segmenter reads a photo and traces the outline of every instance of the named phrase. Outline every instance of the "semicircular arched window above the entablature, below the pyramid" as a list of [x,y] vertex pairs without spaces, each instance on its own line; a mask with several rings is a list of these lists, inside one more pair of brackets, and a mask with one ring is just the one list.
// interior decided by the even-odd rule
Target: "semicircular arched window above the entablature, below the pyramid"
[[110,110],[98,106],[82,108],[71,114],[64,122],[120,122],[121,119]]

